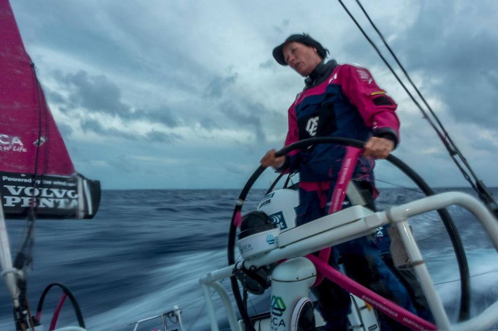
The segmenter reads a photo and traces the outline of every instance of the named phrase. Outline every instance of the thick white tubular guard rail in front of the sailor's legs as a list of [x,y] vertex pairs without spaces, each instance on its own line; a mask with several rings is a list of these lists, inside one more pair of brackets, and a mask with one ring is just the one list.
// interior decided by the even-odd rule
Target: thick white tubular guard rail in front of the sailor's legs
[[[382,212],[373,213],[367,208],[354,206],[324,216],[316,221],[282,232],[277,237],[279,243],[278,248],[260,256],[246,259],[242,263],[244,263],[246,268],[249,268],[250,266],[260,267],[284,258],[289,259],[303,256],[322,248],[335,246],[355,238],[363,237],[379,226],[392,224],[392,226],[396,227],[399,231],[403,245],[407,250],[410,260],[414,264],[415,274],[419,279],[439,330],[488,330],[494,324],[498,323],[498,300],[473,319],[451,325],[442,301],[434,288],[432,278],[424,264],[420,250],[408,228],[407,219],[409,217],[446,208],[450,205],[459,205],[474,214],[477,220],[483,225],[486,232],[490,235],[495,249],[498,252],[498,220],[494,218],[488,209],[476,198],[465,193],[446,192],[392,207]],[[219,331],[219,328],[210,288],[214,289],[220,295],[231,330],[241,331],[228,294],[218,283],[219,280],[230,277],[235,267],[236,265],[231,265],[207,273],[199,279],[199,283],[203,288],[212,331]]]

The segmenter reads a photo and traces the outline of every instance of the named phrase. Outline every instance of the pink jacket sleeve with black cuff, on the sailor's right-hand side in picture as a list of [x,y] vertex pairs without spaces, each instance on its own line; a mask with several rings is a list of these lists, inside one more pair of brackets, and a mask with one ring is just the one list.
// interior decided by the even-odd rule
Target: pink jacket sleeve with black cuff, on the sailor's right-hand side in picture
[[362,67],[342,65],[337,72],[338,83],[353,103],[368,127],[376,136],[393,135],[399,141],[397,105],[387,93],[378,87],[370,72]]

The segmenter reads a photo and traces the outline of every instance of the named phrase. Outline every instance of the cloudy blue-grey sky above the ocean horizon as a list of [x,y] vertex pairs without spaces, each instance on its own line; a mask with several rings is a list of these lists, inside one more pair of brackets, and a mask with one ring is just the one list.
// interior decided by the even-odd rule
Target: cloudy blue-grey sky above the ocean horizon
[[[477,174],[498,186],[498,2],[364,2]],[[340,4],[312,3],[11,0],[72,160],[104,189],[241,188],[262,155],[282,146],[303,82],[271,50],[302,31],[339,63],[369,68],[398,102],[394,155],[430,185],[465,186]],[[374,36],[355,1],[345,3]],[[410,185],[385,161],[377,173]]]

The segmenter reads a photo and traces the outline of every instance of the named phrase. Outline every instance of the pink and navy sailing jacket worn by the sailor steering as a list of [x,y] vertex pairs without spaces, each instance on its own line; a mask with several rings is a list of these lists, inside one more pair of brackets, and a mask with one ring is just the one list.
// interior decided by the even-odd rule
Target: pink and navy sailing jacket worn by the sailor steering
[[[397,145],[396,103],[377,86],[367,69],[331,60],[320,63],[305,83],[288,111],[285,146],[311,137],[367,141],[373,135]],[[335,180],[344,155],[344,146],[319,144],[289,153],[282,168],[299,170],[302,182]],[[353,179],[373,186],[373,166],[373,161],[360,158]]]

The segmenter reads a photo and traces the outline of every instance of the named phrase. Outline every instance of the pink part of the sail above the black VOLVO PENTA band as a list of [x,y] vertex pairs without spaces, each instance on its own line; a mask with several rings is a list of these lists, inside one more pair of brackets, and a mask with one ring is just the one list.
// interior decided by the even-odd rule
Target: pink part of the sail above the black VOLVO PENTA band
[[0,73],[0,171],[73,174],[8,0],[0,0]]

